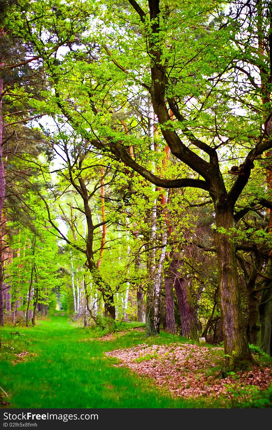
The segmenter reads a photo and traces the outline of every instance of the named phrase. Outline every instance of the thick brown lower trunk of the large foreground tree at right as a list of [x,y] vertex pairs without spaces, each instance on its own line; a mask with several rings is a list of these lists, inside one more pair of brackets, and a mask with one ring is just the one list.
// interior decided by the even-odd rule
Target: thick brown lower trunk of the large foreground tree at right
[[244,316],[238,286],[235,246],[232,240],[234,217],[227,204],[216,207],[215,245],[225,347],[225,369],[235,369],[244,361],[252,361],[248,347]]

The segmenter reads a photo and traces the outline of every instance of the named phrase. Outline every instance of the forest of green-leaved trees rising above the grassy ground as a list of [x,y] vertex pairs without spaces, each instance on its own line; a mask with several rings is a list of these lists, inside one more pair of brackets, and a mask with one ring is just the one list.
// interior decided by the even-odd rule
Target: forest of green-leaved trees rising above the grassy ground
[[270,0],[0,1],[0,332],[127,323],[271,384],[271,93]]

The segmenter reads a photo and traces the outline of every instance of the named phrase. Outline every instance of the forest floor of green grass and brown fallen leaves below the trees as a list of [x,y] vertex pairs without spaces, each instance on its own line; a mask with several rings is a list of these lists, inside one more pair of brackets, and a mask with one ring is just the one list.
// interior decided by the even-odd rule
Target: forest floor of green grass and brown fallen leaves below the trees
[[224,350],[140,323],[105,335],[63,313],[1,328],[0,408],[271,408],[272,359],[220,378]]

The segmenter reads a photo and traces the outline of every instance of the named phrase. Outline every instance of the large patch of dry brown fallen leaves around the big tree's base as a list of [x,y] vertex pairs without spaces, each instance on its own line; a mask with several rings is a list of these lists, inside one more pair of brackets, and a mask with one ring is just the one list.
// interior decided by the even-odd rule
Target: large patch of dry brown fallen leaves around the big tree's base
[[[272,367],[253,366],[250,371],[236,372],[220,379],[223,348],[208,348],[196,344],[152,345],[141,344],[131,349],[106,352],[116,357],[138,375],[153,378],[172,396],[219,397],[232,399],[237,392],[241,399],[250,399],[253,391],[266,390],[272,382]],[[243,394],[244,393],[244,394]]]

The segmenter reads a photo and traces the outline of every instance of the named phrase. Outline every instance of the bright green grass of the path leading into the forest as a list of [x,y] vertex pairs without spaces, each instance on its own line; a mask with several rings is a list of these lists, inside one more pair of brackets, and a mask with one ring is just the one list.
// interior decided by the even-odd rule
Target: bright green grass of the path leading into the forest
[[[126,323],[120,330],[140,324]],[[20,335],[11,334],[18,331]],[[52,316],[35,327],[4,326],[0,330],[0,387],[8,408],[220,408],[205,399],[173,399],[140,378],[104,352],[118,348],[170,344],[187,339],[162,332],[154,338],[130,330],[110,341],[97,338],[94,329],[83,329],[66,316]],[[24,352],[28,352],[24,355]],[[15,355],[15,354],[19,354]],[[6,407],[6,406],[2,406]],[[262,406],[261,406],[262,407]]]

